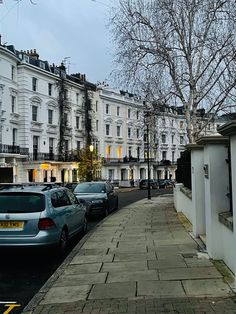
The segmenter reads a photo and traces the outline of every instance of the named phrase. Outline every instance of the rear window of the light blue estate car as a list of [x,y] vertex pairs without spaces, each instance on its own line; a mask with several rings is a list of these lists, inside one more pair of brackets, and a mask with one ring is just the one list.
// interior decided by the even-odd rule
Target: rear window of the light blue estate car
[[33,213],[45,209],[45,197],[37,193],[0,193],[0,213]]

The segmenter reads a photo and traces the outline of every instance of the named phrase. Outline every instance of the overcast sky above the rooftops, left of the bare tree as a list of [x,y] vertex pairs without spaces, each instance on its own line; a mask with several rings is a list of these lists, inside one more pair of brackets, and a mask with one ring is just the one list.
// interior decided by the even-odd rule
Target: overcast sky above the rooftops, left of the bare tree
[[[108,80],[112,71],[111,35],[106,27],[113,0],[0,0],[2,43],[17,50],[36,49],[40,59],[87,80]],[[68,62],[70,64],[68,64]]]

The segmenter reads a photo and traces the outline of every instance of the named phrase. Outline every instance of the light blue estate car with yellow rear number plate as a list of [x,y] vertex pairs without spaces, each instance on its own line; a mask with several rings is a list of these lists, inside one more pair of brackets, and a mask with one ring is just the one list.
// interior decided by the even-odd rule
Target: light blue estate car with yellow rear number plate
[[65,187],[0,185],[0,247],[56,246],[86,232],[86,210]]

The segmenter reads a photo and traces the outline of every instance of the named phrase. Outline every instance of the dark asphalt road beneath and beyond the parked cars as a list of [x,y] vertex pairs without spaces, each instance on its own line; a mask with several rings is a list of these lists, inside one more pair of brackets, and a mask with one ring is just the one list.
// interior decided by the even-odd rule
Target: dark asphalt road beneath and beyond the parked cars
[[[140,199],[147,198],[147,190],[122,190],[119,194],[119,208]],[[151,190],[151,195],[172,193],[172,189]],[[88,230],[94,228],[99,219],[89,221]],[[69,247],[68,253],[80,240],[75,238]],[[67,253],[67,254],[68,254]],[[37,250],[1,250],[0,258],[0,313],[6,308],[3,301],[15,301],[21,304],[19,310],[14,309],[14,314],[21,313],[26,304],[38,292],[47,279],[62,263],[65,256],[55,256],[48,251]]]

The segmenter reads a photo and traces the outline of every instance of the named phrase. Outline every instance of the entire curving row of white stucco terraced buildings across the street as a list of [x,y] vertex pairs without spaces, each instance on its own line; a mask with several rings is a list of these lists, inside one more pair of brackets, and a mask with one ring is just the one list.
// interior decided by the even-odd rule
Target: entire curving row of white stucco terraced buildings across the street
[[77,181],[76,152],[91,143],[99,179],[126,186],[147,178],[148,152],[150,178],[175,178],[187,144],[182,109],[146,113],[136,95],[0,44],[0,182]]

